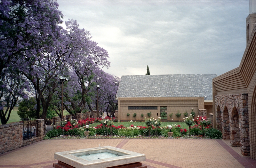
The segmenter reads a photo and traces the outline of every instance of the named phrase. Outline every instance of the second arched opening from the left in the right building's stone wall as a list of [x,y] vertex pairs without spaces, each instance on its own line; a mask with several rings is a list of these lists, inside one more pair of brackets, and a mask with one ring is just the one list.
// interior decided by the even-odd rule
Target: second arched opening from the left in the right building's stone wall
[[222,139],[230,140],[230,132],[229,132],[229,115],[227,106],[224,107],[223,113],[221,115],[222,120]]

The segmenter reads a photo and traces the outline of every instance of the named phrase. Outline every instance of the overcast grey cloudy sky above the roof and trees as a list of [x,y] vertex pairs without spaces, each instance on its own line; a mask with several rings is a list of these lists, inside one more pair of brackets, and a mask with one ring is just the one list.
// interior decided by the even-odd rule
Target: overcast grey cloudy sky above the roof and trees
[[249,0],[57,0],[108,51],[109,74],[218,76],[239,66]]

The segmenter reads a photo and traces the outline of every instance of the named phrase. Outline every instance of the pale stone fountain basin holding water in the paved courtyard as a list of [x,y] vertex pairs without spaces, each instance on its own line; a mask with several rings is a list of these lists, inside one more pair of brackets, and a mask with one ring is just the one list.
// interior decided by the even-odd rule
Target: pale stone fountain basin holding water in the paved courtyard
[[[98,155],[96,159],[87,158],[87,156],[99,153],[112,154],[113,157],[101,158]],[[144,154],[111,146],[57,152],[54,153],[54,158],[75,168],[107,168],[146,160]]]

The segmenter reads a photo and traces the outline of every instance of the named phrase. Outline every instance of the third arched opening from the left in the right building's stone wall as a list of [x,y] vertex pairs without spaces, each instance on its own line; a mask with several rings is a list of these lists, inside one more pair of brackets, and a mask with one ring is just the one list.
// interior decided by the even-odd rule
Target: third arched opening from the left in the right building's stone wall
[[229,123],[230,123],[229,124],[230,125],[230,144],[232,147],[240,147],[239,114],[236,107],[232,109]]

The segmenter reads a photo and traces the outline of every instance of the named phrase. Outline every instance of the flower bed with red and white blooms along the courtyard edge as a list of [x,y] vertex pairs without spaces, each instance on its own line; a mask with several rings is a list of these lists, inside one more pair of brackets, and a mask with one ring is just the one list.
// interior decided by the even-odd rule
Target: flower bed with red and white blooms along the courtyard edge
[[[222,138],[221,132],[211,128],[211,120],[206,117],[193,118],[191,115],[184,118],[184,122],[189,126],[181,128],[178,124],[172,124],[173,138]],[[73,138],[168,138],[168,126],[160,127],[160,118],[146,118],[147,126],[134,126],[131,121],[131,126],[113,125],[113,119],[107,117],[105,119],[97,118],[86,119],[82,121],[61,121],[57,129],[47,132],[45,139],[71,139]],[[95,121],[100,122],[99,125],[89,128],[89,136],[84,137],[84,126],[92,124]],[[193,123],[196,125],[192,126]],[[56,138],[57,137],[57,138]]]

